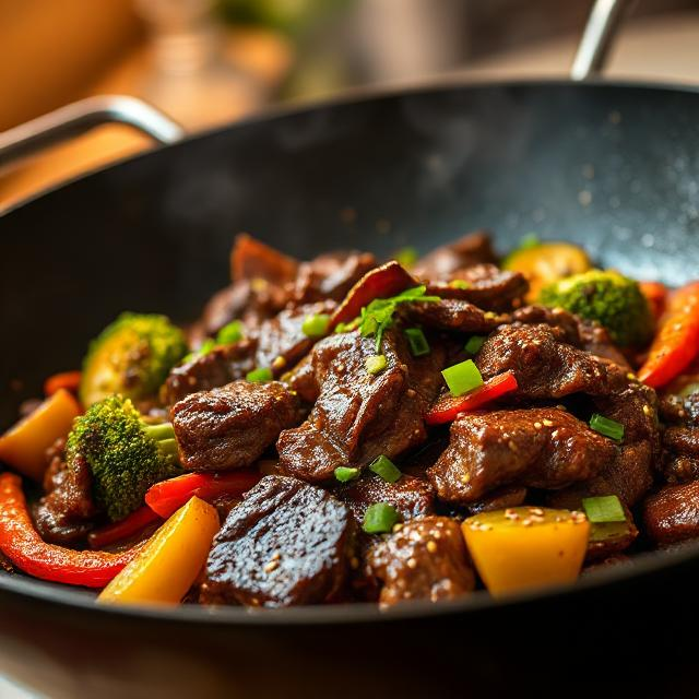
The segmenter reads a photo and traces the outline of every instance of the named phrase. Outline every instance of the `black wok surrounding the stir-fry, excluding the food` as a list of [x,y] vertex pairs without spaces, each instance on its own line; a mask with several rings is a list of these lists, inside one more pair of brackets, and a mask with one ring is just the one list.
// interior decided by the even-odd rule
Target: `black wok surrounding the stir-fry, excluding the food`
[[[125,105],[151,123],[108,103]],[[103,117],[83,105],[71,128]],[[697,277],[699,94],[431,85],[256,118],[45,192],[0,217],[0,427],[121,310],[192,320],[227,282],[236,232],[304,258],[426,251],[483,226],[502,248],[536,230],[637,277]],[[698,573],[689,547],[567,588],[388,613],[105,609],[0,574],[0,672],[60,698],[679,696],[694,686],[680,639],[699,621]]]

